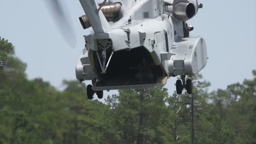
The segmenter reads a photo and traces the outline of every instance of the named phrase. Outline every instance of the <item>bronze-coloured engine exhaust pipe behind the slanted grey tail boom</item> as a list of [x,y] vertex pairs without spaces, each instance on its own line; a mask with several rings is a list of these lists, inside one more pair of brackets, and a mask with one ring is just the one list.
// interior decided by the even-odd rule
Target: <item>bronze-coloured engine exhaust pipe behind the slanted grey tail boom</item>
[[[121,7],[122,4],[117,2],[103,5],[101,11],[108,21],[114,21],[118,19]],[[79,17],[79,20],[84,29],[91,27],[91,23],[86,15]]]

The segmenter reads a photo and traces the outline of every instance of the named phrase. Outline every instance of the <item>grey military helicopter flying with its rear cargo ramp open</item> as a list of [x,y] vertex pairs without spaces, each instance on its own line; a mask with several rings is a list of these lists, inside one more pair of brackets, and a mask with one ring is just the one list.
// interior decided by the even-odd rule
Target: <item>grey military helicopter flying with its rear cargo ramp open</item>
[[79,0],[86,15],[82,51],[75,74],[87,86],[88,99],[103,91],[164,86],[176,81],[177,94],[191,94],[192,80],[207,63],[205,40],[190,37],[187,24],[203,5],[196,0]]

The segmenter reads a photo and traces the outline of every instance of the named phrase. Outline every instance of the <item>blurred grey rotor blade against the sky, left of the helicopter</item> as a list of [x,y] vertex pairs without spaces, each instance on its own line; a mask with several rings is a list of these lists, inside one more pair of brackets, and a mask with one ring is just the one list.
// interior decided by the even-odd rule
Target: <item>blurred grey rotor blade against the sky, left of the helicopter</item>
[[51,15],[53,15],[53,20],[66,43],[71,47],[75,47],[77,45],[75,31],[72,23],[69,21],[68,10],[64,7],[63,0],[62,3],[61,0],[45,0],[45,3],[51,12]]

